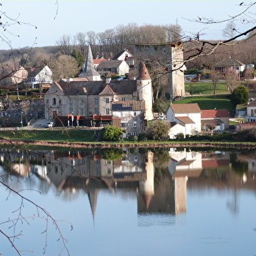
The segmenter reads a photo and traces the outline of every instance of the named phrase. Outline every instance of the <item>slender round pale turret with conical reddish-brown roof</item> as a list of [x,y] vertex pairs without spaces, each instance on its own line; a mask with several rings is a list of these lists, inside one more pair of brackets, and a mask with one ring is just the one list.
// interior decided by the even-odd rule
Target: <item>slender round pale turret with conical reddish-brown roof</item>
[[137,78],[137,95],[139,101],[145,101],[145,119],[152,120],[152,81],[146,65],[143,64],[140,68]]

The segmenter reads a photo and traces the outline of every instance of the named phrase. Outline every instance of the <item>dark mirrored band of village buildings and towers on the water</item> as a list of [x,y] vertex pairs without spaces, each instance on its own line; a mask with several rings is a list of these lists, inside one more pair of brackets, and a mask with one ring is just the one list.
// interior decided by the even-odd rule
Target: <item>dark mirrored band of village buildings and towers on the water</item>
[[[255,152],[195,152],[176,148],[39,151],[1,149],[3,179],[14,189],[29,187],[48,193],[56,187],[63,199],[87,193],[93,218],[99,191],[134,193],[138,215],[176,216],[187,212],[191,189],[232,188],[227,206],[236,212],[236,190],[255,190]],[[25,183],[11,178],[25,179]],[[72,197],[70,197],[72,195]],[[150,219],[150,217],[148,217]],[[171,221],[171,220],[170,220]]]

